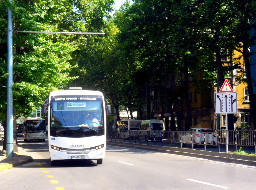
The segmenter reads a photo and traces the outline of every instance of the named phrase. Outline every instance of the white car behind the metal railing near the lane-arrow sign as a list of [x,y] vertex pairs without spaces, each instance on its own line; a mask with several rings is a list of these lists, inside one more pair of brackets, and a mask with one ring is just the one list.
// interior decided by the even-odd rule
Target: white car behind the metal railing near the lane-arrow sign
[[204,134],[206,145],[217,146],[217,133],[209,128],[192,128],[184,132],[181,137],[182,146],[191,145],[192,142],[196,145],[204,145]]

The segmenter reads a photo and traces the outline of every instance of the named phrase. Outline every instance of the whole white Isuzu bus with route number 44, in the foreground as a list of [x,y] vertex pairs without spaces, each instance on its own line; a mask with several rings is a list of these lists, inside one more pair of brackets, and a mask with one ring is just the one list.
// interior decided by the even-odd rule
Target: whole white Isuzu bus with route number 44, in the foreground
[[[99,91],[69,88],[52,91],[48,107],[48,142],[52,165],[58,160],[87,159],[102,164],[106,151],[106,115],[110,106]],[[91,118],[93,117],[93,118]]]

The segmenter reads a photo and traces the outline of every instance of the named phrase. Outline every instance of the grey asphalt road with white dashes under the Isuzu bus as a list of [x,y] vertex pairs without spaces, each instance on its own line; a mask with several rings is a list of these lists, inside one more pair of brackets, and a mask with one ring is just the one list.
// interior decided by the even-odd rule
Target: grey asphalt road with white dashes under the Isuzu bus
[[33,162],[0,172],[0,189],[255,189],[256,167],[107,146],[94,161],[51,166],[48,142],[18,141]]

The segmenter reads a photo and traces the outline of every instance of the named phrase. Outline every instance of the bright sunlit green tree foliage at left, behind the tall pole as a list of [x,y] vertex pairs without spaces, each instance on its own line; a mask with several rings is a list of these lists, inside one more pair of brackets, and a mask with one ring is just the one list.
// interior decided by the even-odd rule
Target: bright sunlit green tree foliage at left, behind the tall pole
[[[0,83],[7,86],[7,5],[0,1]],[[113,0],[13,1],[13,29],[20,31],[98,32]],[[39,108],[50,91],[67,89],[77,68],[76,57],[92,36],[13,34],[13,107],[17,115]],[[0,87],[3,88],[3,87]],[[5,90],[5,89],[4,89]],[[0,120],[6,114],[6,91],[0,94]]]

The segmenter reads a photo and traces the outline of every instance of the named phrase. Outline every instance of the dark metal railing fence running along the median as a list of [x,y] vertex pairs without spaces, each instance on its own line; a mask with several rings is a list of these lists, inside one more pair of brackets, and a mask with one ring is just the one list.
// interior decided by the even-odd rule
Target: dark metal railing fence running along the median
[[[142,143],[146,141],[161,142],[162,146],[172,146],[180,143],[180,147],[217,146],[220,145],[254,146],[256,153],[256,130],[218,130],[215,132],[190,132],[190,131],[107,131],[107,140],[116,142]],[[159,143],[158,143],[159,144]]]

